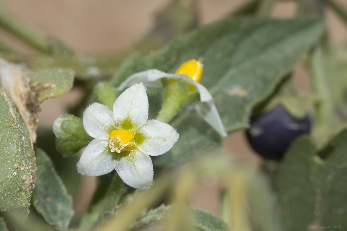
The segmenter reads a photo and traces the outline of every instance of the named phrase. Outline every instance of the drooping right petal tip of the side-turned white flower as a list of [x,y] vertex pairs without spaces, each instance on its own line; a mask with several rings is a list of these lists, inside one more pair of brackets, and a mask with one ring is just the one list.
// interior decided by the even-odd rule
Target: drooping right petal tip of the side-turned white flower
[[226,137],[228,135],[213,100],[208,102],[197,102],[194,107],[196,112],[221,136]]

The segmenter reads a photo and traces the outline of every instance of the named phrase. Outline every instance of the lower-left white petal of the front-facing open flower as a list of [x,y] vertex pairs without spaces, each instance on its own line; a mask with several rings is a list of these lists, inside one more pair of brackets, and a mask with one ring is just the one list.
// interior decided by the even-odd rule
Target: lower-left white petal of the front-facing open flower
[[116,167],[116,156],[109,152],[106,140],[93,139],[82,152],[77,170],[82,175],[96,177],[111,172]]

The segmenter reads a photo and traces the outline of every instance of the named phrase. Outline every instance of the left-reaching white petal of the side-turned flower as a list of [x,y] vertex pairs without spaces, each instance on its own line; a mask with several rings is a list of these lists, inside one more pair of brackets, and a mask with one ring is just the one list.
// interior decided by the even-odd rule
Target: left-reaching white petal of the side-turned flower
[[149,76],[159,74],[159,73],[163,73],[163,72],[157,69],[150,69],[146,71],[137,72],[133,75],[130,75],[126,80],[124,80],[124,82],[122,82],[119,85],[118,90],[122,91],[123,89],[127,87],[130,87],[136,83],[141,83],[141,82],[147,87],[160,87],[162,86],[160,81],[153,81],[149,79]]

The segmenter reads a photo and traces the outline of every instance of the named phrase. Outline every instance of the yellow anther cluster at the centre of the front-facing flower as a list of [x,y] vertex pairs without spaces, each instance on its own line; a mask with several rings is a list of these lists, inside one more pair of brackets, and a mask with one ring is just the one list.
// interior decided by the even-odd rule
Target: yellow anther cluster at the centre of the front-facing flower
[[133,139],[134,134],[120,128],[111,132],[108,146],[111,152],[121,153],[123,151],[130,151],[134,147]]

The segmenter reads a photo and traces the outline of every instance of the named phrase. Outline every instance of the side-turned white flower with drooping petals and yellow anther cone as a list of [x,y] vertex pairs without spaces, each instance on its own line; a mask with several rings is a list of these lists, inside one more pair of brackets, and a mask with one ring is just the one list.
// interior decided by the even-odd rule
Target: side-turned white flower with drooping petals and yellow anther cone
[[118,89],[121,91],[122,89],[139,82],[142,82],[144,85],[149,87],[161,87],[161,78],[185,79],[189,84],[195,86],[200,94],[200,102],[196,102],[192,105],[196,112],[221,136],[226,137],[227,133],[225,131],[225,127],[219,116],[217,108],[214,105],[210,92],[208,89],[206,89],[206,87],[198,83],[201,75],[202,64],[193,59],[183,63],[177,69],[176,74],[165,73],[157,69],[137,72],[130,75],[124,82],[122,82]]

